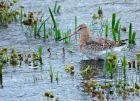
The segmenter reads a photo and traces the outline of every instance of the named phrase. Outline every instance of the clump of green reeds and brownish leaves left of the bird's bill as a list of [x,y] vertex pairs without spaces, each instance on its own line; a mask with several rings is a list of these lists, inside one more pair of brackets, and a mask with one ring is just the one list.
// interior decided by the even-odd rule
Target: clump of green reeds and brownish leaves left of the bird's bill
[[[60,15],[61,6],[58,4],[58,1],[55,2],[53,10],[51,7],[48,7],[48,11],[50,16],[46,19],[44,18],[44,14],[41,12],[28,12],[27,14],[24,12],[24,7],[21,7],[21,26],[23,25],[26,28],[26,35],[33,36],[36,38],[43,38],[44,40],[48,39],[48,36],[54,36],[56,41],[60,40],[62,37],[62,32],[59,28],[59,24],[56,20],[56,17]],[[48,22],[52,22],[51,24],[47,24]],[[69,33],[69,30],[64,32],[66,36]],[[68,41],[65,40],[65,43]]]

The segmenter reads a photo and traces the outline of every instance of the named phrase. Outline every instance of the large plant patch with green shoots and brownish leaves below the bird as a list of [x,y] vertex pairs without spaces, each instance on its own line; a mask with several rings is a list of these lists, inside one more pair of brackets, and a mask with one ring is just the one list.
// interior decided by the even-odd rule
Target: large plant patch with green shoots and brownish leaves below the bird
[[[123,99],[127,99],[130,96],[140,96],[140,84],[138,81],[134,84],[130,83],[127,79],[127,70],[130,68],[128,65],[126,56],[121,59],[121,66],[118,65],[118,56],[114,53],[107,53],[106,60],[104,61],[103,69],[100,70],[103,73],[98,75],[103,75],[103,80],[98,81],[93,75],[93,68],[87,66],[81,71],[82,77],[84,78],[83,88],[84,91],[88,92],[95,99],[104,101],[105,99],[111,100],[115,99],[116,96],[120,96]],[[139,53],[136,54],[136,60],[139,60]],[[136,70],[139,70],[139,62],[137,62]],[[133,64],[135,65],[135,64]],[[119,72],[121,71],[121,73]],[[119,74],[119,75],[118,75]],[[117,80],[115,79],[117,76]],[[109,80],[110,78],[110,80]],[[115,80],[115,81],[114,81]],[[117,95],[116,95],[117,94]]]

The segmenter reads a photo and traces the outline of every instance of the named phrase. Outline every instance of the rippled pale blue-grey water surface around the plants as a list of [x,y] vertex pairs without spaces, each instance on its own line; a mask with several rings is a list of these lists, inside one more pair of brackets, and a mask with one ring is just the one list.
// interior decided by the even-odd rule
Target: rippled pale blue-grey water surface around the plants
[[[47,17],[48,6],[54,5],[54,0],[20,0],[18,5],[25,7],[25,11],[40,11]],[[137,45],[132,51],[124,51],[122,54],[133,56],[140,48],[140,1],[139,0],[59,0],[61,4],[61,15],[58,17],[60,28],[66,30],[67,27],[74,29],[74,16],[78,17],[78,24],[91,23],[91,14],[96,13],[98,7],[101,6],[104,16],[111,20],[111,15],[116,12],[122,18],[124,26],[129,26],[132,22],[134,29],[137,31]],[[17,6],[18,6],[17,5]],[[123,35],[126,36],[125,34]],[[80,84],[82,77],[80,75],[80,61],[85,59],[77,45],[72,41],[73,45],[64,45],[63,42],[35,40],[25,37],[21,31],[20,25],[12,23],[8,28],[0,29],[0,48],[17,48],[17,51],[25,53],[38,50],[38,45],[43,45],[43,66],[34,70],[31,66],[22,66],[12,68],[5,66],[4,72],[4,88],[0,89],[0,101],[47,101],[43,94],[45,91],[51,90],[55,96],[62,101],[90,101],[91,98],[82,92]],[[65,57],[62,48],[66,48]],[[48,57],[47,49],[51,48],[52,55]],[[73,53],[69,52],[72,50]],[[70,76],[64,71],[65,64],[75,65],[75,75]],[[52,64],[53,70],[59,72],[59,83],[54,80],[50,83],[49,66]],[[135,71],[131,71],[135,74]],[[132,101],[134,97],[130,99]],[[139,98],[135,98],[138,101]],[[121,101],[121,99],[118,99]],[[134,100],[133,100],[134,101]]]

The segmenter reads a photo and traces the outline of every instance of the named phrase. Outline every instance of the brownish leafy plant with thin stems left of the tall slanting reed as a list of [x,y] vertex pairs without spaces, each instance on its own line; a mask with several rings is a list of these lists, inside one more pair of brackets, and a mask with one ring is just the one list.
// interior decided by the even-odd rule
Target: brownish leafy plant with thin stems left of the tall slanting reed
[[[41,38],[43,35],[40,34],[41,30],[44,32],[44,38],[46,39],[46,22],[50,17],[43,19],[41,12],[28,12],[25,14],[25,18],[22,23],[26,27],[27,31],[25,32],[27,35],[34,36],[34,38]],[[33,34],[33,35],[32,35]]]

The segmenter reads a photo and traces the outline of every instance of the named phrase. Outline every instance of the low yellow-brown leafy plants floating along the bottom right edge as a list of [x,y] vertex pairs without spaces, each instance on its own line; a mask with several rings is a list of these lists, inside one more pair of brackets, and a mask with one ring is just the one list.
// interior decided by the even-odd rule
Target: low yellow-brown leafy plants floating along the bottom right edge
[[[116,87],[114,89],[114,87]],[[99,83],[96,80],[85,80],[83,82],[84,91],[88,92],[94,98],[103,101],[104,99],[111,99],[107,98],[106,94],[113,95],[116,94],[116,97],[122,96],[123,99],[128,98],[129,96],[137,95],[139,96],[140,86],[135,83],[135,86],[132,87],[128,82],[124,80],[117,81],[117,83]],[[114,96],[115,97],[115,96]]]

